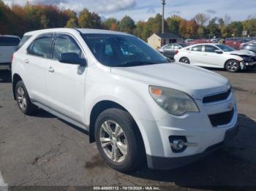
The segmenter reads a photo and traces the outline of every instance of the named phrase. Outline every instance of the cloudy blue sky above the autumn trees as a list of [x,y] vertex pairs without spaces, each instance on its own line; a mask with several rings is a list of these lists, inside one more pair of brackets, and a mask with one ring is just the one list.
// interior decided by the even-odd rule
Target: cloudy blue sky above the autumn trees
[[[6,4],[23,5],[27,0],[4,0]],[[121,19],[129,15],[135,21],[148,20],[162,12],[161,0],[29,0],[31,4],[54,4],[60,8],[79,12],[87,8],[97,12],[103,19],[116,17]],[[256,0],[165,0],[165,17],[173,14],[191,19],[198,12],[210,17],[230,15],[231,20],[245,20],[256,17]]]

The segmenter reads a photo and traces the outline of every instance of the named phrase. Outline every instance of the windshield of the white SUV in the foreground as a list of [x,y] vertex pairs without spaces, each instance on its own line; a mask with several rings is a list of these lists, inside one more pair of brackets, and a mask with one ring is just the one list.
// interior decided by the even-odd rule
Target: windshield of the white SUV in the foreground
[[110,67],[167,63],[167,59],[135,36],[82,34],[97,60]]

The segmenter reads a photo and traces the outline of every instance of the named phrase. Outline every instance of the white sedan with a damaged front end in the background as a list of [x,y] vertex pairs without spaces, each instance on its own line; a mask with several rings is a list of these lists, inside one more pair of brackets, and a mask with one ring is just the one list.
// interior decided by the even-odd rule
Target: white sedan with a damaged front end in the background
[[236,72],[256,66],[255,53],[248,50],[234,50],[225,44],[206,43],[184,47],[174,56],[175,61],[195,66],[226,69]]

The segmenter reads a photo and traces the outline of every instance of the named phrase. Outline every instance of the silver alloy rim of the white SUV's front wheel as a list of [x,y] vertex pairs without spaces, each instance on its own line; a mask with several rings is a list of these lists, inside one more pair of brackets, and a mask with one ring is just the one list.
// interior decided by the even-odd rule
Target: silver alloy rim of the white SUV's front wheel
[[128,142],[117,122],[106,120],[99,130],[99,141],[105,155],[115,163],[123,162],[128,153]]

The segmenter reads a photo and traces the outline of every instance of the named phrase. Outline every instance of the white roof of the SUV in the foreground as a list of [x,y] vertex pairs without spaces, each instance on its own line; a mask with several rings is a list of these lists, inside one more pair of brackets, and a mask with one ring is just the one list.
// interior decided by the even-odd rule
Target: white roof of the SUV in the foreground
[[67,33],[82,33],[82,34],[122,34],[130,35],[126,33],[121,33],[117,31],[108,31],[101,29],[91,29],[91,28],[49,28],[37,31],[29,31],[25,35],[43,34],[43,33],[54,33],[54,32],[67,32]]

